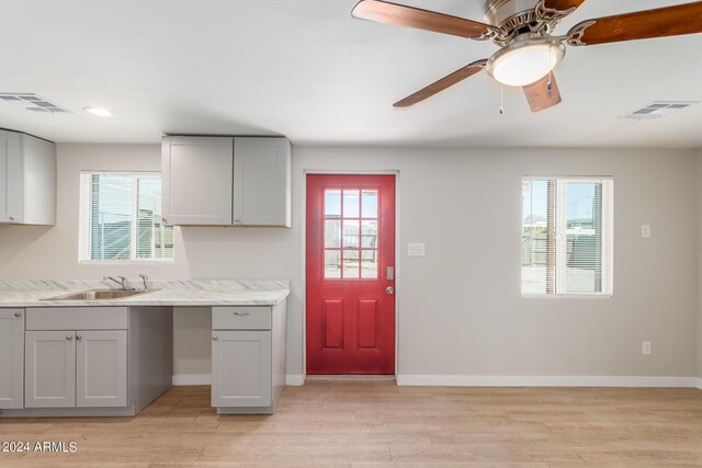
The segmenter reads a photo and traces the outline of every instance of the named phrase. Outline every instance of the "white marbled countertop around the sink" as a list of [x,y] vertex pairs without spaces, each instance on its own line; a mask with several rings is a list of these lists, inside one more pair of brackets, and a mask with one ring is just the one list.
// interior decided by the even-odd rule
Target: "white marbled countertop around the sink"
[[[132,281],[136,287],[138,281]],[[123,299],[43,300],[89,289],[115,289],[107,282],[0,281],[0,307],[86,306],[275,306],[290,295],[286,281],[154,281],[150,290]]]

